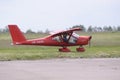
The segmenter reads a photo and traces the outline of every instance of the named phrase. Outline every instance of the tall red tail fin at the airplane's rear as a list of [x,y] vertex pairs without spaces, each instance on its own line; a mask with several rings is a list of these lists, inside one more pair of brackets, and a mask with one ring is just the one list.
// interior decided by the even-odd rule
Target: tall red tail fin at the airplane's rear
[[13,44],[19,44],[20,42],[26,41],[25,36],[22,34],[17,25],[8,25],[8,27],[12,37]]

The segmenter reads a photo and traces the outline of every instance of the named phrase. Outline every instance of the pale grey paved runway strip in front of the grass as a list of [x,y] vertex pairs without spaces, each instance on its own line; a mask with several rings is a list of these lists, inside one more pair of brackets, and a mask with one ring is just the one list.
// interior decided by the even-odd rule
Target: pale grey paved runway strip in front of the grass
[[120,80],[120,58],[0,61],[0,80]]

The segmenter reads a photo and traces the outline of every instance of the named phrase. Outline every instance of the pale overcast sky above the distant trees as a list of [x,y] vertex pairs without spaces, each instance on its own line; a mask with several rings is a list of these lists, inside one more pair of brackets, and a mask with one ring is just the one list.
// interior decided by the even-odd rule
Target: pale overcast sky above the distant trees
[[120,25],[120,0],[0,0],[0,28],[59,30],[82,24]]

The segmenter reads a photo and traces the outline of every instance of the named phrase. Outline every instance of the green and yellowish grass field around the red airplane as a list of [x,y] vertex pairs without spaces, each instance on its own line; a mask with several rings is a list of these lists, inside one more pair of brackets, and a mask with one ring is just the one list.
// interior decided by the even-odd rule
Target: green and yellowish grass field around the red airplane
[[[47,34],[25,34],[28,39],[39,38]],[[85,52],[59,52],[60,47],[12,46],[9,33],[0,34],[0,60],[37,60],[51,58],[117,58],[120,57],[120,32],[80,33],[92,35],[92,46],[85,46]]]

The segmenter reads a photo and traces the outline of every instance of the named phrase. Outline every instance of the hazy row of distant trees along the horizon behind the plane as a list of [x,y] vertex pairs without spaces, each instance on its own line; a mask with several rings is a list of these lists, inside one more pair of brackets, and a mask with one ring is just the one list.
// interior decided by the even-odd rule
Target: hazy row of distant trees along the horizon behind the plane
[[[103,26],[103,27],[97,27],[97,26],[89,26],[86,28],[84,25],[75,25],[71,28],[81,28],[83,32],[116,32],[120,31],[120,26]],[[0,29],[0,33],[6,33],[9,32],[8,28],[5,27],[4,29]],[[49,33],[50,31],[48,29],[45,30],[45,32],[37,31],[34,32],[31,29],[28,29],[25,33]]]

